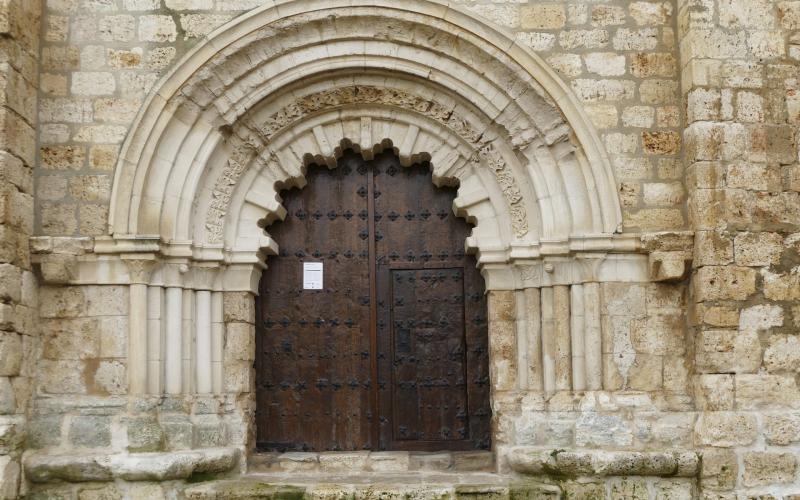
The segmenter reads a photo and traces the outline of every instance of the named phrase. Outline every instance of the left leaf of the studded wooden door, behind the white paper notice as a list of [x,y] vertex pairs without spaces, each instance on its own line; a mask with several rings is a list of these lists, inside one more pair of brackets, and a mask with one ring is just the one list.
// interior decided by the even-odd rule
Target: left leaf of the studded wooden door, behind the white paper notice
[[[354,156],[310,168],[270,227],[281,250],[260,284],[262,449],[371,447],[367,177]],[[303,262],[323,263],[323,290],[303,290]]]

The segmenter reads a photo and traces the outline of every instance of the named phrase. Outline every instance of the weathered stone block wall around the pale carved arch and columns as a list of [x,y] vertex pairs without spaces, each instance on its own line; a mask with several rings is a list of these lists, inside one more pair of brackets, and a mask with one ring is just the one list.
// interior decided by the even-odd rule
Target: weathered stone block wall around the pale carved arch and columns
[[[6,54],[0,68],[0,497],[16,494],[26,409],[24,446],[32,463],[39,460],[32,470],[45,471],[35,478],[42,483],[64,473],[52,472],[51,455],[168,456],[251,447],[250,294],[225,294],[218,394],[131,396],[133,287],[62,285],[77,279],[80,259],[95,258],[87,257],[91,238],[108,233],[119,148],[158,78],[216,26],[263,3],[45,0],[39,37],[38,1],[0,2]],[[564,477],[591,476],[565,483],[570,495],[800,494],[800,2],[458,3],[513,30],[583,103],[610,157],[626,232],[695,232],[691,286],[681,281],[690,260],[684,247],[647,243],[651,276],[671,283],[633,279],[625,266],[599,283],[602,384],[588,392],[536,386],[541,374],[530,357],[534,350],[526,351],[536,338],[522,332],[539,316],[519,311],[533,307],[520,302],[527,289],[492,292],[501,470],[514,468],[506,457],[515,452],[528,457],[524,469],[542,450],[552,451],[556,462],[554,450],[583,450],[587,455],[572,463],[567,458],[563,467],[545,467]],[[43,236],[32,243],[46,281],[38,290],[31,235]],[[113,264],[97,269],[107,282],[122,274]],[[149,281],[136,283],[145,290]],[[549,319],[569,331],[564,304],[567,310]],[[566,373],[569,381],[574,361],[558,362],[557,375]],[[703,454],[700,490],[693,469],[678,459],[672,469],[646,460],[641,469],[628,464],[619,470],[641,477],[624,479],[608,479],[581,462],[613,469],[614,460],[641,456],[598,459],[591,450],[672,449]],[[191,467],[162,477],[173,481],[163,485],[34,482],[31,496],[158,497],[180,489],[174,481],[190,477],[193,468],[208,467],[186,460]],[[653,463],[663,460],[659,455]],[[223,472],[233,467],[223,465]],[[93,481],[120,477],[117,469],[109,472],[113,464],[106,466]],[[137,480],[159,478],[136,474],[143,474]]]

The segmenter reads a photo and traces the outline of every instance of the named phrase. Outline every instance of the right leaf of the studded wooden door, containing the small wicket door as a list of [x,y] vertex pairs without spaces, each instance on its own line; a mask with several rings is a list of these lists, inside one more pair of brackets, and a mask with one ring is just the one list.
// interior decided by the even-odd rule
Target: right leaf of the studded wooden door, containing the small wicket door
[[[392,154],[373,173],[381,448],[487,449],[484,285],[464,252],[471,229],[453,214],[456,190]],[[410,354],[398,350],[406,338]]]

